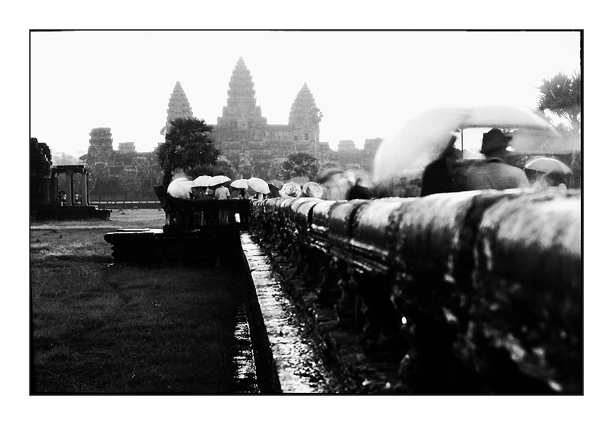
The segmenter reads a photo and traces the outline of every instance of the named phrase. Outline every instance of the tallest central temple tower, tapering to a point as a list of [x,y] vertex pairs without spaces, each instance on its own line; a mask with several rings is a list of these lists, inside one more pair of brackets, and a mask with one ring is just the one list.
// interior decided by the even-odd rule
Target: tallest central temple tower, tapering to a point
[[227,106],[223,107],[222,116],[217,117],[218,140],[221,144],[263,141],[267,120],[262,117],[262,108],[256,105],[252,76],[242,56],[238,58],[228,86]]

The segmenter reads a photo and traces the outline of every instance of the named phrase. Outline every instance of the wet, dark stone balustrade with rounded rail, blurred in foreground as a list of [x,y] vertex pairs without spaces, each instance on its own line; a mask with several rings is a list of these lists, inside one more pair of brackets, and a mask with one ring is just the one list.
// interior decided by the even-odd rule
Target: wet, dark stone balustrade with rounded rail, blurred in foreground
[[396,362],[394,391],[582,392],[578,190],[251,209],[252,235],[285,259],[321,332],[349,329],[373,362]]

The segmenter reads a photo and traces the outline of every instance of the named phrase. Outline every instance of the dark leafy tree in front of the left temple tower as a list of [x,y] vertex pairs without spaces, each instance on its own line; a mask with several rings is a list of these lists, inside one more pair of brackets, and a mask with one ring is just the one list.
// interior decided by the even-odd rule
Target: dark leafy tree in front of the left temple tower
[[182,168],[185,174],[202,165],[215,165],[221,151],[214,145],[212,126],[198,118],[175,118],[170,121],[165,142],[158,147],[158,164],[163,170],[163,185],[168,186],[172,172]]

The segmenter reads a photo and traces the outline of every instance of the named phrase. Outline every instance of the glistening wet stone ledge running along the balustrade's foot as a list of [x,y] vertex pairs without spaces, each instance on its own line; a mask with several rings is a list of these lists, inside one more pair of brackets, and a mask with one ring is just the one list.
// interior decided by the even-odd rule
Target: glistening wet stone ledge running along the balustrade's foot
[[249,234],[242,233],[241,242],[262,310],[282,391],[343,392],[334,372],[322,360],[313,331],[284,291],[267,255],[253,242]]

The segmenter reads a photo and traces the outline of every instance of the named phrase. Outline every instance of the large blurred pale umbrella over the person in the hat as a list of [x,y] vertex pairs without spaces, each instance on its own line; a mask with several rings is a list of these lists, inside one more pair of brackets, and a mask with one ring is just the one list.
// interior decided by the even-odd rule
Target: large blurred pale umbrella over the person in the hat
[[381,182],[423,169],[453,143],[452,133],[493,127],[556,133],[545,118],[510,106],[434,109],[409,120],[394,138],[383,140],[375,155],[373,178]]

